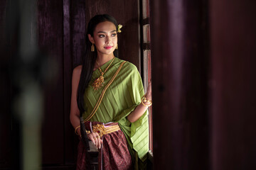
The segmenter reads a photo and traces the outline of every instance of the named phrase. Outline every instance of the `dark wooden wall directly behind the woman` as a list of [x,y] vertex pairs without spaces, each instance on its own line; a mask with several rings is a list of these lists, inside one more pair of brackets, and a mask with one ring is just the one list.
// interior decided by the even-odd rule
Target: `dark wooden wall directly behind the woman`
[[[69,120],[70,83],[73,68],[81,63],[85,50],[89,19],[100,13],[116,17],[124,25],[123,32],[119,34],[120,58],[139,66],[138,3],[134,2],[132,5],[120,1],[38,1],[39,47],[59,64],[58,79],[53,86],[46,87],[42,130],[43,164],[46,167],[51,164],[72,166],[75,163],[78,140]],[[121,41],[124,36],[129,38]],[[128,46],[124,47],[126,44]]]

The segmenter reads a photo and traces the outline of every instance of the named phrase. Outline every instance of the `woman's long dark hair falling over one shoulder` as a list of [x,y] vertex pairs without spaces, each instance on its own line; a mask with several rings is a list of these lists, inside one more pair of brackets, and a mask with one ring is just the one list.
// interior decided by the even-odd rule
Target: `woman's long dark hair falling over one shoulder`
[[[84,94],[85,94],[85,89],[87,88],[90,79],[92,79],[92,72],[93,68],[95,65],[95,61],[97,58],[97,50],[95,52],[92,52],[91,46],[92,43],[90,42],[88,38],[88,34],[90,34],[93,37],[93,32],[97,26],[97,24],[105,22],[105,21],[110,21],[114,23],[114,26],[116,26],[117,29],[117,21],[115,20],[114,17],[107,15],[107,14],[102,14],[102,15],[97,15],[94,16],[93,18],[90,19],[88,26],[87,26],[87,33],[86,33],[86,38],[85,38],[85,56],[82,57],[82,72],[80,75],[80,81],[78,85],[78,108],[80,110],[80,117],[82,116],[82,113],[85,112],[86,106],[84,103]],[[117,50],[114,50],[114,56],[117,56]]]

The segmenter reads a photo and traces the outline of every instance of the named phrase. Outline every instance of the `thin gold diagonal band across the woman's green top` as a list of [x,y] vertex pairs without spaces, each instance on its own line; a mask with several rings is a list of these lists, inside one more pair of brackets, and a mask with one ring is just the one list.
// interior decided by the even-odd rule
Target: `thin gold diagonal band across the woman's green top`
[[122,66],[124,65],[125,62],[126,62],[126,61],[124,61],[124,62],[122,62],[122,63],[120,64],[120,66],[119,66],[118,69],[117,69],[117,72],[114,73],[114,76],[112,77],[112,79],[110,80],[110,82],[109,82],[109,83],[107,84],[107,86],[105,86],[105,88],[102,90],[102,93],[100,94],[100,98],[98,99],[98,101],[97,101],[95,107],[93,108],[92,113],[90,113],[90,115],[89,115],[87,118],[85,118],[84,122],[90,120],[90,119],[92,118],[92,116],[95,115],[97,109],[98,109],[99,106],[100,106],[100,103],[102,102],[102,98],[104,97],[105,92],[107,91],[107,88],[110,86],[110,84],[112,84],[112,82],[114,81],[114,79],[117,77],[117,74],[120,72],[120,69],[122,68]]

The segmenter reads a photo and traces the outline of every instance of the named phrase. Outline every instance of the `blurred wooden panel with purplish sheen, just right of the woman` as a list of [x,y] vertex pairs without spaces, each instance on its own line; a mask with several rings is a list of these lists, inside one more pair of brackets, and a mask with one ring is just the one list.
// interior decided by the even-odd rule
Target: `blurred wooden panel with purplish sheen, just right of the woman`
[[207,6],[151,7],[154,169],[208,169]]

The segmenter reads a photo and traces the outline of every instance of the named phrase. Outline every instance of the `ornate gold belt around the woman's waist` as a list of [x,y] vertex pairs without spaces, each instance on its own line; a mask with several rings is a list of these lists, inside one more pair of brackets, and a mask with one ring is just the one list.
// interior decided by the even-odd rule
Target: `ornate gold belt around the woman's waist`
[[119,125],[112,125],[107,127],[102,124],[92,125],[92,132],[97,132],[100,137],[108,133],[115,132],[117,130],[120,130]]

